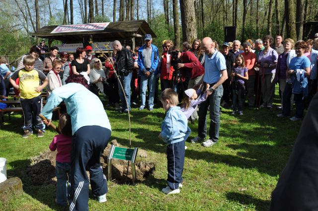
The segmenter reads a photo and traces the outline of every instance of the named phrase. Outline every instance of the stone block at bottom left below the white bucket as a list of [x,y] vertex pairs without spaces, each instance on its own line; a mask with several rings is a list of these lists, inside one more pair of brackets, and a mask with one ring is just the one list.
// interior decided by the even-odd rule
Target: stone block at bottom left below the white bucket
[[23,192],[22,181],[18,177],[11,177],[0,183],[0,201],[6,203],[11,196]]

